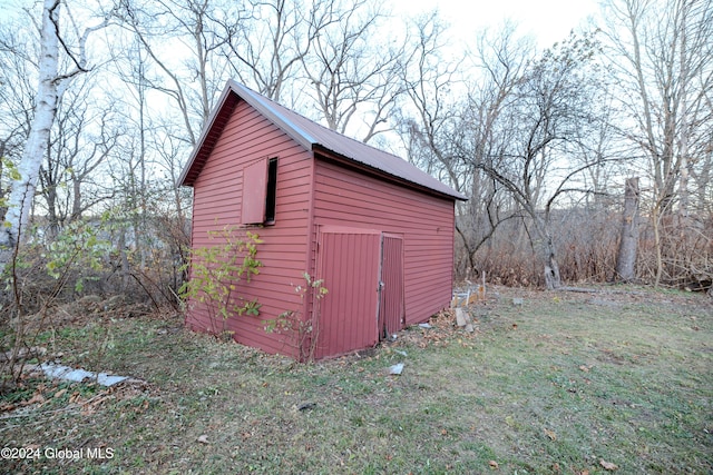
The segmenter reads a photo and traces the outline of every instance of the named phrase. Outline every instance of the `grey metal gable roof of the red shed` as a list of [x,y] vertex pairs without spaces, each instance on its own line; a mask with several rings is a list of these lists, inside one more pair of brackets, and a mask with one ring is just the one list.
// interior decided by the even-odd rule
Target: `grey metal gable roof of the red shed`
[[206,121],[191,159],[178,178],[179,185],[193,185],[237,103],[234,96],[245,100],[307,150],[330,151],[348,161],[381,171],[400,181],[407,181],[459,200],[467,199],[463,195],[402,158],[328,129],[234,80],[227,82],[217,106]]

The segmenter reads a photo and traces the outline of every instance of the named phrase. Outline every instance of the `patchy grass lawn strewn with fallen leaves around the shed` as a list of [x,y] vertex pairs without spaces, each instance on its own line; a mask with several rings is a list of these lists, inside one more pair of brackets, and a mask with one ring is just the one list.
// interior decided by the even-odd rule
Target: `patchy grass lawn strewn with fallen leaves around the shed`
[[28,375],[0,395],[0,441],[39,457],[0,473],[713,473],[710,298],[495,290],[472,334],[441,316],[313,365],[180,316],[58,309],[77,318],[40,335],[48,356],[140,382]]

